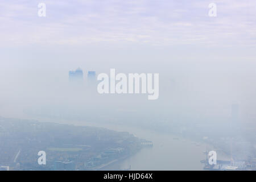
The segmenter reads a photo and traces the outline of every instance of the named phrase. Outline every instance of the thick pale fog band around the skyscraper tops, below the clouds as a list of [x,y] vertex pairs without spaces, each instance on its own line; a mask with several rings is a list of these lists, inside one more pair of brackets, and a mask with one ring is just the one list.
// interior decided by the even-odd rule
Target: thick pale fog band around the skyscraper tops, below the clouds
[[[254,117],[255,86],[251,83],[255,81],[255,63],[252,59],[245,59],[240,52],[232,54],[230,49],[218,54],[205,48],[200,53],[200,48],[192,46],[179,52],[173,47],[137,48],[139,51],[133,46],[6,51],[1,62],[1,107],[5,110],[1,115],[61,106],[128,109],[137,113],[150,109],[155,114],[172,113],[200,119],[230,117],[231,105],[239,104],[243,122]],[[232,55],[227,58],[229,54]],[[84,71],[84,80],[72,85],[68,72],[78,67]],[[115,68],[117,73],[159,73],[159,99],[148,101],[147,94],[98,94],[97,84],[88,85],[87,72],[109,75],[110,68]],[[171,115],[167,119],[171,120]]]

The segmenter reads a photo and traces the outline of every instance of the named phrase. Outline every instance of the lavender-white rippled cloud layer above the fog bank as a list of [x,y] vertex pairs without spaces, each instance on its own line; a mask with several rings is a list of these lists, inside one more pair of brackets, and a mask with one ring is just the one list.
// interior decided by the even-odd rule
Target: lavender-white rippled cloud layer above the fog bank
[[37,1],[1,2],[0,46],[92,42],[255,46],[253,0],[215,1],[216,18],[208,16],[205,1],[44,2],[46,18],[38,17]]

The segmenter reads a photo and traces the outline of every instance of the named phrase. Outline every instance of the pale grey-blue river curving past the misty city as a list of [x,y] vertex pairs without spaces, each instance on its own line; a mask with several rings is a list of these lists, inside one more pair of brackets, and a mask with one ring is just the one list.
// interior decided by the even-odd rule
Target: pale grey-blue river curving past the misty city
[[172,134],[158,133],[136,127],[88,122],[75,122],[74,124],[128,131],[139,138],[153,142],[153,147],[143,148],[137,154],[106,168],[109,170],[127,169],[130,166],[131,170],[203,170],[204,164],[200,163],[200,160],[205,159],[203,151],[206,147],[210,147],[190,139],[177,138]]

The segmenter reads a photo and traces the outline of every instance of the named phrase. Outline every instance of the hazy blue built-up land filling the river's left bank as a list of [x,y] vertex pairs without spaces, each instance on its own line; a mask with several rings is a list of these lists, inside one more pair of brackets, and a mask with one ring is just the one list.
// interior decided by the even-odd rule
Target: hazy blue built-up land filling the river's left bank
[[[126,132],[96,127],[5,118],[0,118],[0,126],[0,170],[97,170],[150,143]],[[46,165],[38,163],[39,151],[46,152]]]

